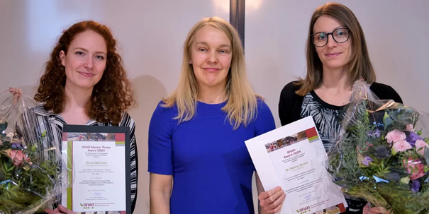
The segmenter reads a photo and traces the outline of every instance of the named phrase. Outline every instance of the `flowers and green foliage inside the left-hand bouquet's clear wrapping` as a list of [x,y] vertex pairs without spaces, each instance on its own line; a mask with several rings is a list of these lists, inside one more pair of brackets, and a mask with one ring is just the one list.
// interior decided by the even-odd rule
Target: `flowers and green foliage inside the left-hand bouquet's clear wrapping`
[[[0,124],[0,133],[6,127],[7,124]],[[49,159],[43,160],[45,158],[40,158],[43,153],[38,150],[45,136],[43,133],[39,142],[26,148],[14,145],[4,135],[0,136],[0,213],[13,214],[40,206],[56,188],[60,174],[56,155],[50,154]],[[20,164],[18,156],[9,156],[11,151],[22,153],[26,158],[22,158]]]

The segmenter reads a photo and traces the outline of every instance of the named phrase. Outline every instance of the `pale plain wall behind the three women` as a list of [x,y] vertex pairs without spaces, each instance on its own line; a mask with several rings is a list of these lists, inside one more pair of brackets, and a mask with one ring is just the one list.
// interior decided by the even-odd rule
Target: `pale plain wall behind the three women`
[[[325,2],[246,1],[247,71],[257,93],[266,98],[277,126],[280,91],[294,76],[304,75],[308,23],[314,9]],[[425,98],[429,90],[429,1],[338,2],[360,20],[378,81],[394,87],[408,105],[429,112]],[[139,153],[135,213],[149,213],[149,120],[157,102],[177,86],[187,32],[206,16],[229,20],[229,0],[0,0],[0,90],[13,86],[33,95],[62,30],[84,19],[108,25],[119,42],[139,102],[130,112],[137,124]]]

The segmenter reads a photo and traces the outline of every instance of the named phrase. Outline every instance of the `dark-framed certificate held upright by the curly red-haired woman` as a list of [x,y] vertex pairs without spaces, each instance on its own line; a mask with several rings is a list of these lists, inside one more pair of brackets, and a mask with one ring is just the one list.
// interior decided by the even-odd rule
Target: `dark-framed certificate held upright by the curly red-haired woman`
[[61,203],[77,213],[130,214],[130,129],[65,126],[62,153],[72,187]]

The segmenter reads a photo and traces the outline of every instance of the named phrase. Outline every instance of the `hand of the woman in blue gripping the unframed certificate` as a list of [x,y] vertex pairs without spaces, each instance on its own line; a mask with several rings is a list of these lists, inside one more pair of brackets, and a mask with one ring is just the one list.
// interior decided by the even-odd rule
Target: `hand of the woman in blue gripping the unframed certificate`
[[279,212],[285,198],[286,194],[280,186],[269,191],[261,192],[258,196],[258,199],[260,199],[260,206],[269,214]]

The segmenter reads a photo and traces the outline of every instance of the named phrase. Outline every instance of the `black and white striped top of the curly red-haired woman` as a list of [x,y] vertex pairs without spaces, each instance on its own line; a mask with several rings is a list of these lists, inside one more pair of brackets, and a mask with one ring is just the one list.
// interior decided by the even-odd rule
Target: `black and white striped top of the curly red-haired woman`
[[[18,135],[23,138],[30,138],[32,136],[41,136],[46,130],[46,135],[48,139],[52,139],[52,142],[40,143],[38,148],[42,151],[47,151],[45,148],[47,147],[56,147],[60,148],[60,143],[62,141],[62,128],[66,125],[65,120],[61,117],[60,114],[55,114],[54,112],[46,112],[43,109],[43,104],[39,104],[34,108],[26,110],[23,113],[20,121],[18,121],[16,132]],[[35,124],[35,126],[34,126]],[[50,126],[46,124],[51,124]],[[110,122],[101,123],[98,121],[94,121],[90,119],[87,126],[113,126]],[[131,184],[131,210],[133,211],[135,208],[135,201],[137,200],[137,182],[138,182],[138,154],[137,154],[137,145],[135,143],[135,123],[134,120],[130,117],[130,115],[126,112],[123,112],[121,122],[118,126],[128,126],[130,127],[130,184]],[[25,132],[21,130],[26,130]],[[36,135],[35,135],[36,134]],[[26,142],[31,142],[27,141]],[[40,153],[39,158],[49,158],[48,152]]]

